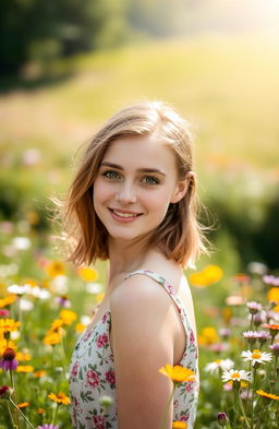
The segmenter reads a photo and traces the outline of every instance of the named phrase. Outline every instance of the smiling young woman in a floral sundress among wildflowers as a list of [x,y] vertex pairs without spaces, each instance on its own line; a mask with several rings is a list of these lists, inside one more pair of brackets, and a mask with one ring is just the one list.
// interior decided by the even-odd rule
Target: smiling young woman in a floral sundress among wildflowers
[[109,272],[72,356],[75,429],[159,429],[172,392],[158,371],[166,364],[195,373],[175,388],[166,428],[194,426],[197,343],[184,267],[207,250],[192,146],[187,122],[169,105],[144,102],[110,118],[85,151],[64,205],[69,260],[108,260]]

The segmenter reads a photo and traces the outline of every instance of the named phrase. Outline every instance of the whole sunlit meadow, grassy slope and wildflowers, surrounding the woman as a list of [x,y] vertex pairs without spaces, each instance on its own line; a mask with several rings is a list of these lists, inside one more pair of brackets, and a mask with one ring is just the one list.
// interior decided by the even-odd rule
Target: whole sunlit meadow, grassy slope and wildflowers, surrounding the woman
[[[14,350],[5,361],[20,366],[0,384],[14,383],[10,398],[34,427],[71,427],[69,361],[106,279],[104,263],[78,271],[62,261],[49,196],[63,194],[77,147],[107,116],[159,98],[192,123],[198,191],[220,221],[215,253],[186,272],[202,381],[195,429],[276,428],[278,265],[263,230],[276,236],[278,48],[267,35],[167,39],[31,64],[13,90],[1,86],[0,351]],[[27,428],[9,395],[0,390],[0,428]]]

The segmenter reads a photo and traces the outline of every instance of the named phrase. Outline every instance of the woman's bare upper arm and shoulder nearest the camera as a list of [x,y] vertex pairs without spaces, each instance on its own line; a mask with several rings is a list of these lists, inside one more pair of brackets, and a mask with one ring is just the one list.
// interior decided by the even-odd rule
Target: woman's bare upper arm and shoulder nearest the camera
[[[154,281],[134,276],[110,300],[119,429],[159,429],[172,381],[158,372],[173,365],[174,308]],[[173,406],[168,413],[171,428]]]

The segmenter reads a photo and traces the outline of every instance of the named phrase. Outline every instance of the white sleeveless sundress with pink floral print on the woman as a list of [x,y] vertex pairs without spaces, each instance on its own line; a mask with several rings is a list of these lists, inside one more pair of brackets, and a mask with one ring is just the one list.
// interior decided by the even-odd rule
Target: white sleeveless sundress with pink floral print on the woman
[[[186,333],[186,346],[178,365],[190,368],[195,373],[195,381],[178,384],[173,395],[173,420],[194,427],[199,389],[198,348],[187,312],[172,286],[160,275],[151,271],[138,270],[158,282],[175,302]],[[78,338],[70,366],[71,418],[74,429],[118,429],[116,376],[113,354],[109,343],[110,311],[96,323],[89,324]],[[166,362],[167,364],[167,362]],[[105,408],[99,400],[108,395],[113,404]]]

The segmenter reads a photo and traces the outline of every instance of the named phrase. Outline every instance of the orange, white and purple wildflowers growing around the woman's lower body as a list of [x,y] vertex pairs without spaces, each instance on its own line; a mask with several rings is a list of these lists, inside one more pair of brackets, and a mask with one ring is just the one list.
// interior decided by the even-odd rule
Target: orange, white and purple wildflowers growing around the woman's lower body
[[[105,265],[74,270],[51,259],[27,222],[1,222],[0,229],[0,428],[71,428],[70,358],[104,297]],[[186,273],[198,323],[195,428],[278,427],[279,277],[264,264],[248,269],[226,279],[218,265]],[[230,294],[214,302],[210,288],[221,285]]]

